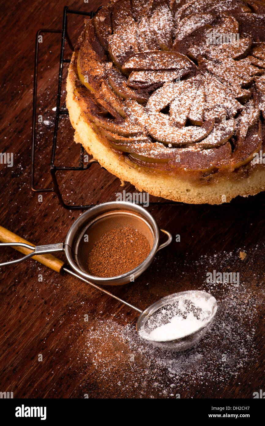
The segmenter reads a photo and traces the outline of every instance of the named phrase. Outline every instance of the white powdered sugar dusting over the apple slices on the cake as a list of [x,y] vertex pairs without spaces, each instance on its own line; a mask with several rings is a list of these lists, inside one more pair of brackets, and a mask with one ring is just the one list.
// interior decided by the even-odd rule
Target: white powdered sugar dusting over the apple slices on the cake
[[[99,98],[97,101],[104,108],[102,115],[106,110],[113,118],[94,123],[125,137],[131,133],[135,136],[138,127],[139,135],[148,138],[147,157],[154,154],[157,159],[165,159],[168,155],[169,159],[172,155],[168,149],[194,145],[189,149],[192,155],[180,159],[183,170],[215,173],[228,170],[229,164],[234,170],[251,158],[245,150],[245,158],[233,163],[235,147],[244,142],[256,116],[260,111],[264,115],[265,110],[264,81],[257,77],[265,75],[264,46],[252,42],[252,32],[256,31],[252,25],[258,27],[262,15],[251,12],[240,0],[178,3],[117,1],[106,7],[106,16],[111,19],[105,27],[108,58],[104,78],[110,87],[108,93],[103,93],[105,102],[100,103]],[[242,24],[244,13],[247,21]],[[104,29],[105,19],[100,22],[100,29]],[[244,25],[249,31],[245,32]],[[211,34],[215,36],[209,42]],[[222,42],[216,35],[222,35]],[[97,74],[97,68],[94,71]],[[255,111],[246,115],[249,98]],[[108,102],[112,109],[108,109]],[[128,119],[123,121],[126,115]],[[121,150],[137,154],[134,142],[128,141]],[[163,145],[151,148],[151,143],[157,142]],[[225,144],[225,148],[221,146]],[[139,146],[143,154],[142,144]],[[215,158],[214,166],[202,161],[206,156]]]

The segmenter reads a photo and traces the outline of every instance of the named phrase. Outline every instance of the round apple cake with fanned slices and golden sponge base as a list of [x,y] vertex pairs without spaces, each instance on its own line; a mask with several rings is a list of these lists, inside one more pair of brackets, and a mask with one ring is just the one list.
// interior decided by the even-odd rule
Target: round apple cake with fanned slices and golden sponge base
[[221,204],[265,189],[264,0],[117,0],[67,78],[74,139],[139,191]]

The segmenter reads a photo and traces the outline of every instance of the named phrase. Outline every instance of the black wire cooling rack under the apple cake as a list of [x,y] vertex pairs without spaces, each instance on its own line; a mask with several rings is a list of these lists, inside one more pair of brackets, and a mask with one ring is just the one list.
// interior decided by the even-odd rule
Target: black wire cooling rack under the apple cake
[[[100,6],[99,9],[101,9]],[[99,10],[97,9],[97,11]],[[67,17],[68,14],[75,15],[85,15],[90,17],[90,19],[97,13],[96,12],[80,12],[77,10],[71,10],[67,6],[63,9],[63,26],[62,29],[40,29],[36,34],[35,41],[35,62],[34,62],[34,86],[33,86],[33,112],[32,112],[32,135],[31,135],[31,190],[36,193],[46,193],[46,192],[54,192],[60,204],[69,210],[83,210],[88,209],[89,207],[93,207],[94,204],[87,205],[75,205],[75,204],[66,204],[63,201],[63,196],[60,191],[60,187],[57,181],[56,173],[57,171],[80,171],[80,170],[88,170],[92,163],[97,162],[92,158],[88,161],[87,164],[84,164],[84,148],[81,145],[80,147],[80,157],[79,157],[79,166],[78,167],[69,167],[63,165],[56,164],[56,143],[57,143],[57,134],[58,134],[58,126],[59,126],[59,117],[60,115],[69,115],[67,109],[61,108],[61,92],[62,92],[62,79],[63,79],[63,66],[66,63],[70,63],[71,59],[64,58],[64,49],[65,43],[67,41],[68,46],[72,51],[74,51],[74,46],[70,40],[68,35],[68,27],[67,27]],[[39,36],[44,33],[59,33],[62,35],[61,38],[61,50],[60,50],[60,67],[59,67],[59,78],[58,78],[58,89],[57,89],[57,102],[56,102],[56,111],[55,111],[55,122],[54,122],[54,134],[52,141],[52,149],[51,149],[51,162],[50,162],[50,172],[53,186],[48,188],[40,188],[35,186],[35,150],[36,150],[36,110],[37,110],[37,83],[38,83],[38,60],[39,60]],[[150,202],[149,205],[154,204],[182,204],[182,203],[172,203],[172,202]]]

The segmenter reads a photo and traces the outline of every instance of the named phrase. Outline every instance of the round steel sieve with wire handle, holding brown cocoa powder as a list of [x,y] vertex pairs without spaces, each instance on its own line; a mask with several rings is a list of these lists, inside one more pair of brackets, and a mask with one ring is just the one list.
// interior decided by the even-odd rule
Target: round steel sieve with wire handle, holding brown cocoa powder
[[[127,273],[107,278],[91,275],[88,271],[88,254],[94,243],[109,230],[123,226],[133,227],[142,233],[150,244],[150,253],[140,265]],[[151,264],[157,251],[166,247],[172,241],[172,236],[169,232],[163,229],[161,231],[168,236],[168,239],[163,244],[158,245],[160,238],[159,228],[154,217],[147,210],[137,204],[125,201],[103,203],[86,211],[73,223],[64,244],[36,246],[34,252],[31,253],[24,250],[24,253],[28,253],[27,256],[0,263],[0,266],[22,262],[35,255],[64,250],[68,264],[78,275],[102,285],[122,285],[140,276]],[[14,236],[14,234],[12,235]],[[16,240],[15,237],[13,240],[10,238],[2,239],[2,241],[4,244],[0,244],[0,246],[14,246],[15,242],[19,243],[16,244],[16,247],[19,246],[31,250],[32,246],[25,240]]]

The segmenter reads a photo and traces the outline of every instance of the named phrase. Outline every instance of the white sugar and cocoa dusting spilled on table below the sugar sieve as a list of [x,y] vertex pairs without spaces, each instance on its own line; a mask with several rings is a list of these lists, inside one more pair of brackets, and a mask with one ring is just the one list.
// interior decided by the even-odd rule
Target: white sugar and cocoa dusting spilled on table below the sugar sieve
[[[183,388],[193,397],[195,385],[215,389],[218,383],[225,388],[242,367],[255,362],[256,314],[264,294],[259,297],[258,301],[245,286],[227,285],[211,331],[195,347],[174,354],[142,340],[135,325],[97,320],[85,334],[80,362],[94,365],[103,395],[114,387],[120,397],[134,392],[143,397],[181,397]],[[130,389],[123,374],[130,377]]]

